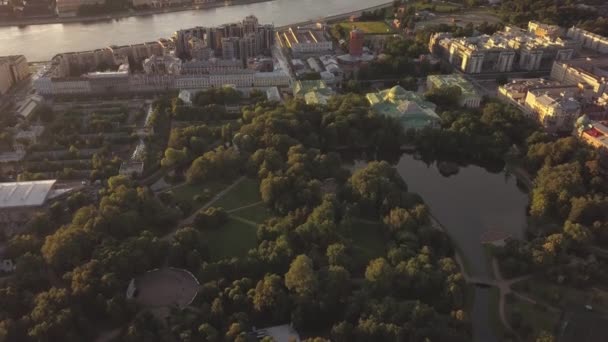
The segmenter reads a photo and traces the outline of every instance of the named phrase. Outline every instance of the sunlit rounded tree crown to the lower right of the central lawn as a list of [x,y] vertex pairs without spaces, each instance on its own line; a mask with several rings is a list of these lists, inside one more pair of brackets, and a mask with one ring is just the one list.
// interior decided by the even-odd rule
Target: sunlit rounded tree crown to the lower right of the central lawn
[[317,292],[318,279],[312,266],[312,260],[298,255],[285,274],[285,286],[301,298],[309,298]]

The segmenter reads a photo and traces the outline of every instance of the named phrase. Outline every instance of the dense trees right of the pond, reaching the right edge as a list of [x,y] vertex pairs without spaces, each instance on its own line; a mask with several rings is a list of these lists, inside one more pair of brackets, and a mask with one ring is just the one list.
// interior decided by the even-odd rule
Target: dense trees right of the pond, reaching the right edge
[[507,274],[542,271],[575,286],[605,282],[605,261],[592,245],[608,243],[607,183],[601,157],[573,137],[527,139],[525,165],[536,173],[530,195],[529,242],[510,241],[497,251]]

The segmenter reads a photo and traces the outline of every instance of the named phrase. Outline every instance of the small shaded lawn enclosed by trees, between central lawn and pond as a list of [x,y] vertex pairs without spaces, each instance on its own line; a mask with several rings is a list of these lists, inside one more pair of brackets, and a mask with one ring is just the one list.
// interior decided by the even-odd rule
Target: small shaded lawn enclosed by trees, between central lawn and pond
[[357,266],[365,269],[370,260],[384,256],[386,243],[380,223],[354,220],[351,229],[354,259]]

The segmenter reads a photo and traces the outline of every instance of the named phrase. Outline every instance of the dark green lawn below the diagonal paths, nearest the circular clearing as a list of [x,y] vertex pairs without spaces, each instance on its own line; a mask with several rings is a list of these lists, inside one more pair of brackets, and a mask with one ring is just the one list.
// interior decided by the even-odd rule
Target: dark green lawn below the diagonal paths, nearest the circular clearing
[[205,231],[211,260],[247,255],[257,246],[256,231],[256,227],[232,218],[220,229]]

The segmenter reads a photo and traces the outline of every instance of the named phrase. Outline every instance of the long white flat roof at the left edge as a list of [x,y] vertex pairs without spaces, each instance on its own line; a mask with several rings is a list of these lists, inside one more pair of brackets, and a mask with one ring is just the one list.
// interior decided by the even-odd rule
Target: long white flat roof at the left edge
[[55,182],[49,179],[0,183],[0,208],[41,206]]

